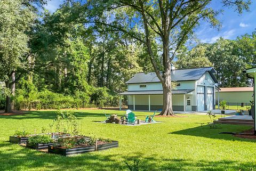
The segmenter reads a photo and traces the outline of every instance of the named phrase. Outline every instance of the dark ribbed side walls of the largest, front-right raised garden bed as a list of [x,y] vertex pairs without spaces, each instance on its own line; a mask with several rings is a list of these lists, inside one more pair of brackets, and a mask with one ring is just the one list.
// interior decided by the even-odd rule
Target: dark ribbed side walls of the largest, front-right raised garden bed
[[97,145],[97,149],[95,145],[81,145],[81,146],[75,146],[74,148],[65,149],[61,146],[56,145],[49,145],[48,146],[48,152],[49,153],[55,153],[60,154],[62,156],[71,156],[74,154],[82,154],[86,152],[91,151],[99,151],[99,150],[106,150],[110,148],[117,148],[118,147],[118,141],[112,141],[110,143],[103,143]]

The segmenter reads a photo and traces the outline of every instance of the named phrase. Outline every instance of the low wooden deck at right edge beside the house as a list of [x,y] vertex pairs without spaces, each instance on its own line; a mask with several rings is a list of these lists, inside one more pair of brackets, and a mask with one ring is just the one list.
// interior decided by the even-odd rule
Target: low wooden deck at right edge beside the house
[[253,119],[250,115],[232,115],[219,118],[217,123],[221,124],[235,124],[235,125],[250,125],[253,126]]

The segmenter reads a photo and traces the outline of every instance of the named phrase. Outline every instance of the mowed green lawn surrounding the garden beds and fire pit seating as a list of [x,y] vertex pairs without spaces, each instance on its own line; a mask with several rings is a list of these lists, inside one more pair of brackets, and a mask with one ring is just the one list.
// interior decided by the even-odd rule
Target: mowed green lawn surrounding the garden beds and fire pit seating
[[[105,110],[119,116],[124,111]],[[145,119],[149,112],[135,112]],[[151,114],[151,113],[150,113]],[[17,129],[37,132],[55,118],[54,111],[0,116],[0,170],[127,170],[125,161],[139,159],[146,170],[256,170],[256,141],[219,132],[241,132],[250,126],[202,126],[205,115],[155,118],[158,124],[124,126],[102,124],[102,110],[78,110],[82,134],[119,141],[119,148],[63,157],[7,142]]]

